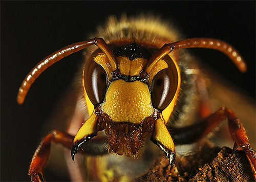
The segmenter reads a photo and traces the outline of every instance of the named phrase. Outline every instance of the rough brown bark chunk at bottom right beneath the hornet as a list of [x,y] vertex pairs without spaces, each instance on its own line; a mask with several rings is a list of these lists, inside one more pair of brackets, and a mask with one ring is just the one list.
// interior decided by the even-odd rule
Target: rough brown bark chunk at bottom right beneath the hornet
[[250,164],[241,150],[204,145],[190,156],[176,156],[173,169],[159,157],[136,181],[254,181]]

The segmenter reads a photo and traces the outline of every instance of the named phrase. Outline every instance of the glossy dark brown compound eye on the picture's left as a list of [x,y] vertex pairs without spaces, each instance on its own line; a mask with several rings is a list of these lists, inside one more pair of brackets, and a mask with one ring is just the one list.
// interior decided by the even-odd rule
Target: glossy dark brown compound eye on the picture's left
[[84,73],[84,86],[94,106],[102,103],[106,94],[108,77],[103,67],[92,61]]

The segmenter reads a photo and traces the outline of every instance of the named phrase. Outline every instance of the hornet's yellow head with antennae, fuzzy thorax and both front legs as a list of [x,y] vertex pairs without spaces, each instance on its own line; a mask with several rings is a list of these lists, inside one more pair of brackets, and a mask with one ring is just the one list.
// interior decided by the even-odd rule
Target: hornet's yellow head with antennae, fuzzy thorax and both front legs
[[[255,172],[256,157],[244,128],[236,115],[225,107],[211,115],[207,113],[207,117],[202,114],[206,118],[196,124],[171,127],[171,136],[166,125],[178,120],[179,114],[184,113],[182,107],[186,103],[185,98],[201,81],[197,69],[188,69],[188,64],[193,60],[181,48],[219,50],[241,71],[246,70],[242,57],[224,41],[211,38],[178,40],[180,37],[176,30],[159,19],[127,19],[123,16],[117,21],[111,17],[108,25],[98,31],[96,38],[71,44],[40,61],[19,88],[19,104],[24,102],[31,84],[47,67],[90,45],[98,47],[90,47],[80,74],[83,99],[87,106],[84,109],[87,109],[90,117],[80,122],[75,136],[58,130],[47,135],[31,162],[29,174],[32,181],[40,180],[38,174],[42,174],[46,166],[52,141],[70,148],[74,160],[77,152],[91,154],[78,149],[94,138],[98,131],[104,130],[109,152],[135,157],[139,155],[145,137],[150,134],[151,140],[162,149],[173,167],[173,139],[176,144],[195,142],[225,118],[228,118],[229,130],[234,133],[232,138],[237,146],[245,150]],[[199,85],[200,91],[205,89]],[[198,109],[207,110],[202,107],[206,102],[202,97]]]

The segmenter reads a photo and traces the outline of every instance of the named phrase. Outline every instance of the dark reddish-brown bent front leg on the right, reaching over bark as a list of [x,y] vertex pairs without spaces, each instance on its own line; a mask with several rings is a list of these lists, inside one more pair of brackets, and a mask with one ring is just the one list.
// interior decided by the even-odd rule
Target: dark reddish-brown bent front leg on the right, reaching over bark
[[228,108],[221,107],[215,113],[212,113],[206,119],[191,126],[184,128],[172,128],[172,138],[175,144],[192,143],[202,139],[207,135],[217,124],[225,118],[228,119],[228,128],[231,137],[236,142],[234,149],[237,146],[241,147],[250,162],[252,172],[256,178],[256,152],[251,149],[245,129],[237,118],[237,116]]

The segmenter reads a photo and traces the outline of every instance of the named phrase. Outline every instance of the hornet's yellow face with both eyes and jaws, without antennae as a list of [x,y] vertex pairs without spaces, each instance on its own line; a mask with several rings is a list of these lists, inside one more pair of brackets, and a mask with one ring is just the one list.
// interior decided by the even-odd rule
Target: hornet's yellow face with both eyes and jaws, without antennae
[[[156,48],[146,49],[135,42],[116,46],[113,52],[116,70],[99,49],[83,70],[90,118],[77,132],[72,151],[76,153],[97,131],[105,130],[109,152],[136,156],[146,135],[152,134],[152,141],[173,157],[174,144],[165,124],[179,92],[177,63],[166,55],[148,64]],[[143,70],[146,64],[148,69]]]

